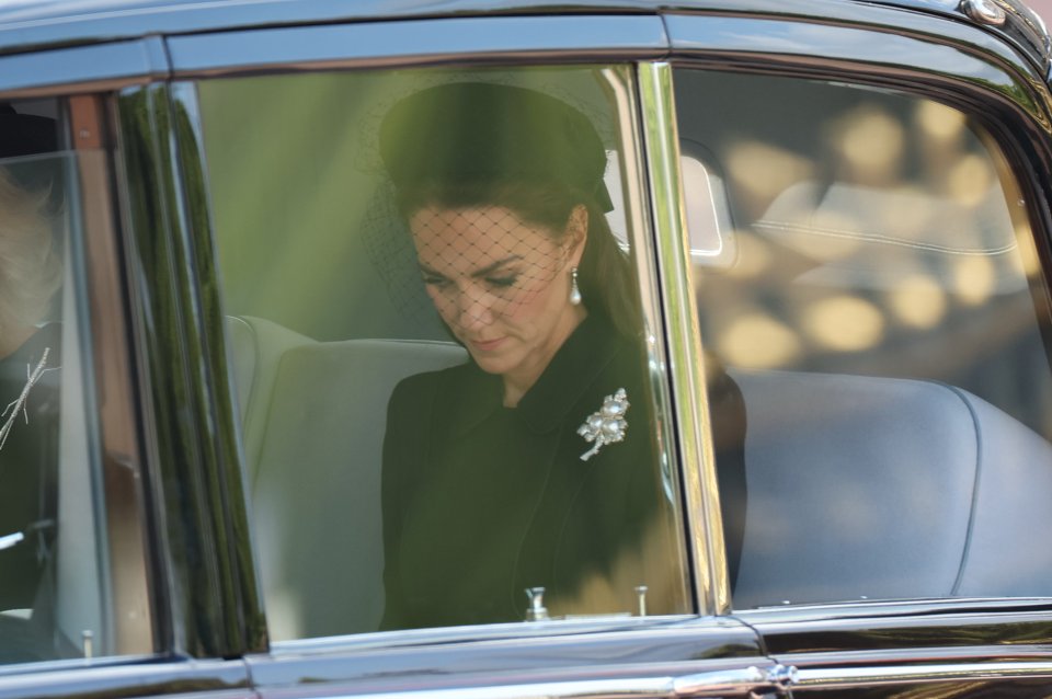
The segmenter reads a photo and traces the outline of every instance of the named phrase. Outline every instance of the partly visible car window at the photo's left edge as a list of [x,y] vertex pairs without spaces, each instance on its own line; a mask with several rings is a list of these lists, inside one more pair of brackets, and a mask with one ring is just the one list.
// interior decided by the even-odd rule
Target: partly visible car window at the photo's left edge
[[0,663],[117,652],[61,114],[0,104]]

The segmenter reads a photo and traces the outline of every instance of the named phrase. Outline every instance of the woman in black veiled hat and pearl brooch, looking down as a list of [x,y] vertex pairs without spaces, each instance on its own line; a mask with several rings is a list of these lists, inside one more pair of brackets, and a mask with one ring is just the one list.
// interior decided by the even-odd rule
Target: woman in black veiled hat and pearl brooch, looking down
[[[419,92],[380,150],[427,293],[470,362],[402,381],[384,450],[385,628],[683,610],[638,302],[580,112]],[[457,503],[450,507],[449,503]]]

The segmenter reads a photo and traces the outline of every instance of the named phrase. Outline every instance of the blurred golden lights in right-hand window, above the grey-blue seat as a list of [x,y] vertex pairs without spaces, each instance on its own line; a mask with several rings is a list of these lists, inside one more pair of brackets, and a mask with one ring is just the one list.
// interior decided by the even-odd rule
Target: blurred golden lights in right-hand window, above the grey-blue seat
[[[706,249],[733,251],[691,245],[702,342],[718,359],[959,386],[1052,437],[1052,405],[1034,390],[1050,377],[1033,231],[981,123],[866,85],[676,78],[690,105],[681,137],[702,161],[685,193],[707,206],[688,210],[688,228],[695,238],[705,219]],[[705,186],[711,172],[722,197]]]

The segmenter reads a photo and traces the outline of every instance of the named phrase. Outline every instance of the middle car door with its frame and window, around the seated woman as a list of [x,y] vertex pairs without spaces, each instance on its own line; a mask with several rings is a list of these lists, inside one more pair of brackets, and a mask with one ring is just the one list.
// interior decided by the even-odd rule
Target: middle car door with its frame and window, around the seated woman
[[[651,171],[667,179],[674,162],[671,92],[647,64],[666,50],[661,19],[332,22],[188,33],[165,45],[172,82],[126,93],[121,111],[136,138],[178,154],[163,162],[157,148],[158,176],[183,186],[173,206],[184,207],[181,254],[195,264],[203,329],[187,342],[208,347],[197,356],[211,371],[197,390],[211,393],[214,424],[237,435],[216,468],[230,454],[243,466],[270,637],[245,656],[255,691],[658,697],[785,686],[788,671],[755,632],[713,615],[725,584],[710,558],[725,557],[702,547],[709,535],[693,507],[701,481],[682,483],[675,467],[678,397],[665,367],[685,356],[687,337],[666,336],[656,277],[666,253],[648,195]],[[462,81],[544,91],[604,139],[608,224],[631,254],[645,326],[651,387],[633,404],[652,411],[640,425],[665,455],[650,467],[666,504],[649,548],[665,592],[618,583],[609,599],[619,601],[596,595],[565,618],[381,631],[387,403],[398,380],[462,363],[464,351],[423,294],[377,130],[399,99]]]

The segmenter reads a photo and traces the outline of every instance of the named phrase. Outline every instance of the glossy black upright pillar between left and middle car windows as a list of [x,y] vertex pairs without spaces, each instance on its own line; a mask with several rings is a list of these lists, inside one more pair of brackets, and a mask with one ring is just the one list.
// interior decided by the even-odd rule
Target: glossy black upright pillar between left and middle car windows
[[[145,272],[132,276],[135,297],[149,309],[140,316],[150,324],[140,328],[139,342],[146,355],[158,359],[150,364],[149,382],[159,451],[151,494],[164,512],[163,519],[155,522],[151,541],[155,580],[164,582],[155,586],[164,600],[158,634],[162,646],[179,653],[237,656],[265,648],[265,631],[233,442],[237,431],[214,412],[217,382],[208,369],[219,359],[203,337],[202,306],[210,303],[209,317],[218,310],[215,298],[203,298],[192,283],[193,275],[210,273],[201,257],[213,251],[203,221],[207,216],[194,204],[190,208],[197,216],[169,216],[183,206],[184,196],[204,200],[196,139],[167,85],[129,90],[121,101],[125,167],[139,173],[130,182],[127,211],[128,254]],[[180,142],[169,141],[170,131],[179,134]],[[173,162],[173,156],[182,162]],[[190,174],[176,183],[179,172]],[[225,362],[225,354],[218,354]],[[232,413],[229,404],[226,408],[229,421]],[[186,614],[168,614],[180,609]]]

